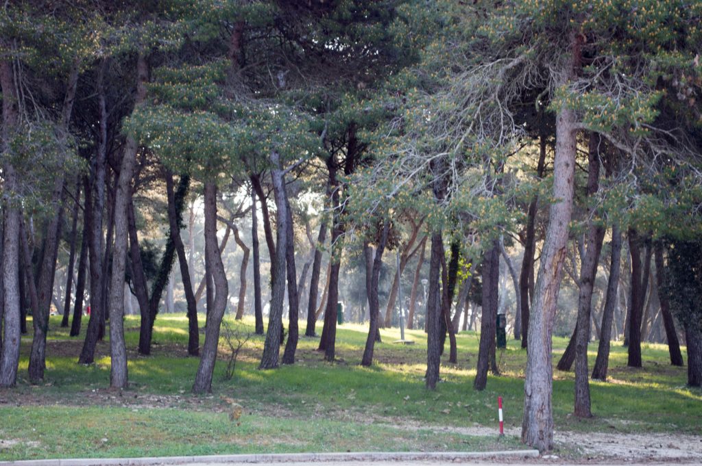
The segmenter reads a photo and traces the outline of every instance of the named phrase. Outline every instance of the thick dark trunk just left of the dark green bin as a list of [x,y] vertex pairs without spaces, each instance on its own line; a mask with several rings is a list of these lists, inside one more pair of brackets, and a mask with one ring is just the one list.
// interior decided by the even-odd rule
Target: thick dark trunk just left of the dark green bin
[[473,381],[475,390],[484,390],[490,363],[491,346],[496,337],[498,290],[500,280],[500,245],[495,240],[485,252],[482,266],[482,317],[478,361]]

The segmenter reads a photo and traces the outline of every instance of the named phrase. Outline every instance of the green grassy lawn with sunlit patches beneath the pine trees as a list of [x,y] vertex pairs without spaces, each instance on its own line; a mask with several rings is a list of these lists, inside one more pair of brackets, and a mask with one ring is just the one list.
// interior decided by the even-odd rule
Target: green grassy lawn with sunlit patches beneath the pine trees
[[[0,390],[0,460],[523,448],[515,432],[522,420],[526,352],[517,341],[498,352],[501,376],[490,376],[487,389],[476,392],[479,337],[459,334],[458,364],[442,366],[442,383],[428,392],[423,331],[407,331],[416,343],[399,345],[392,343],[398,329],[381,330],[376,365],[363,368],[367,327],[344,324],[337,332],[337,362],[323,361],[315,351],[317,338],[300,338],[296,364],[274,371],[256,369],[263,337],[252,336],[230,381],[223,377],[226,345],[220,345],[213,394],[195,396],[190,387],[199,361],[187,357],[185,317],[159,315],[150,357],[136,354],[138,318],[127,318],[131,386],[121,392],[109,390],[109,343],[98,344],[96,364],[81,366],[76,361],[83,336],[69,338],[59,324],[52,317],[44,385],[25,380],[31,335],[22,337],[18,387]],[[253,320],[241,325],[253,332]],[[554,359],[566,345],[554,339]],[[597,345],[590,350],[592,364]],[[573,374],[555,371],[556,429],[702,434],[702,391],[685,386],[687,368],[670,366],[664,345],[642,350],[644,368],[628,369],[625,348],[613,342],[609,381],[591,384],[590,420],[570,416]],[[498,396],[509,432],[504,439],[496,435]],[[227,399],[243,406],[241,418],[230,420]]]

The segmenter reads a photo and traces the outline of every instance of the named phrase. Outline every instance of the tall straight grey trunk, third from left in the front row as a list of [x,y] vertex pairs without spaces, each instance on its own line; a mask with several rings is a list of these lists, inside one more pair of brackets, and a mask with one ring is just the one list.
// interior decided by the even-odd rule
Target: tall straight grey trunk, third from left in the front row
[[[146,99],[148,78],[146,58],[137,59],[137,86],[135,107]],[[127,355],[124,343],[124,270],[126,269],[127,238],[129,234],[127,208],[131,203],[131,180],[138,149],[133,137],[127,136],[122,155],[119,178],[114,193],[114,252],[110,285],[110,386],[126,388],[128,384]]]

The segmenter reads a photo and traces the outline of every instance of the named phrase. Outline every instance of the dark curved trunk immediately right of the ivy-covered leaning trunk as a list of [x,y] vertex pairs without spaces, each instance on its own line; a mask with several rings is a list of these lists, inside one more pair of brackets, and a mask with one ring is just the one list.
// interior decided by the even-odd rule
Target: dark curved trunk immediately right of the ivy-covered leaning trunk
[[[185,189],[181,186],[185,185]],[[187,257],[185,256],[185,245],[183,239],[180,238],[180,228],[183,224],[183,208],[185,206],[185,196],[187,195],[188,187],[190,186],[190,176],[183,174],[180,176],[178,184],[177,196],[173,192],[173,174],[166,173],[166,195],[168,196],[168,226],[171,228],[170,237],[173,240],[173,246],[176,247],[178,253],[178,265],[180,266],[180,277],[183,280],[183,292],[185,293],[185,301],[187,302],[187,354],[190,356],[199,355],[200,335],[197,323],[197,301],[192,292],[192,282],[190,281],[190,270],[187,266]]]

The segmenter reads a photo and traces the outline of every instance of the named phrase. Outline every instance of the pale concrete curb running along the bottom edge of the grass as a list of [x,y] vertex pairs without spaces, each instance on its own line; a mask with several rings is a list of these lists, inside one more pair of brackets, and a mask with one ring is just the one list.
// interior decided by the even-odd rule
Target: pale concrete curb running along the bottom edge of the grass
[[0,461],[0,466],[147,466],[190,463],[270,463],[311,461],[460,461],[487,458],[536,458],[538,450],[406,453],[282,453],[260,455],[157,456],[152,458],[72,458],[65,460]]

